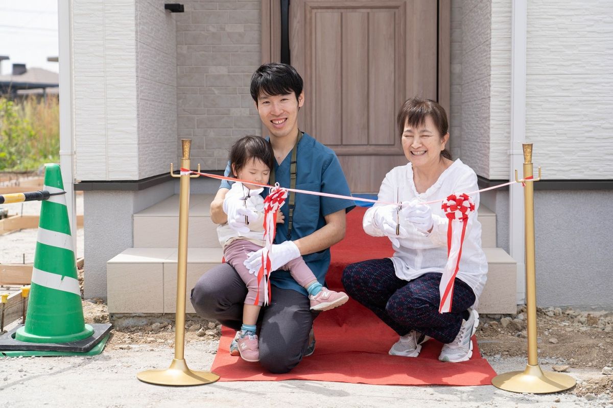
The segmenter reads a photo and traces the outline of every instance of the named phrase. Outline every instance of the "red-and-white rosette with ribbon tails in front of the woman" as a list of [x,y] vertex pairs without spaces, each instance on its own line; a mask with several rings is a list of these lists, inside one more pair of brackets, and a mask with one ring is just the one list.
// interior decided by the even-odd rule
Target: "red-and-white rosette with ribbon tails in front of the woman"
[[465,193],[452,194],[443,201],[441,208],[449,219],[449,224],[447,226],[447,264],[439,286],[441,303],[438,306],[438,313],[449,313],[454,297],[455,275],[460,269],[466,224],[468,224],[470,213],[474,211],[474,202]]

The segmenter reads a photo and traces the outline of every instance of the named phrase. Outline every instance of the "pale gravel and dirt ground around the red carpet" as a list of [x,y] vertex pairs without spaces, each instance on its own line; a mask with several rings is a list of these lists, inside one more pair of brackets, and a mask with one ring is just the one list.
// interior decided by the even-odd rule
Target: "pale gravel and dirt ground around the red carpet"
[[[77,196],[77,213],[83,211]],[[21,213],[21,204],[3,205]],[[40,202],[23,206],[37,214]],[[0,263],[34,259],[36,229],[0,236]],[[77,232],[82,256],[83,230]],[[83,301],[87,322],[109,321],[100,300]],[[288,380],[217,382],[202,387],[161,387],[140,382],[139,371],[167,368],[173,358],[174,326],[169,316],[113,316],[112,337],[93,357],[0,357],[0,395],[11,407],[175,407],[181,404],[232,407],[240,404],[293,407],[600,407],[613,408],[613,313],[549,308],[538,311],[539,364],[563,369],[577,386],[550,395],[516,394],[493,386],[404,387]],[[15,322],[14,324],[16,324]],[[8,327],[10,329],[10,326]],[[192,369],[210,369],[219,341],[216,322],[188,316],[185,358]],[[525,313],[483,316],[479,347],[497,373],[523,370],[527,363]],[[608,366],[605,366],[608,365]]]

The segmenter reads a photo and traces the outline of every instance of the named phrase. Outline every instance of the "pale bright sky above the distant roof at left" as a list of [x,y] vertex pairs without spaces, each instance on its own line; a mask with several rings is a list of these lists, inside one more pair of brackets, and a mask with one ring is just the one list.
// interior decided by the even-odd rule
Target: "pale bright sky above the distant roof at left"
[[58,1],[0,0],[0,55],[10,57],[0,62],[3,75],[13,64],[59,72],[57,62],[47,61],[58,56]]

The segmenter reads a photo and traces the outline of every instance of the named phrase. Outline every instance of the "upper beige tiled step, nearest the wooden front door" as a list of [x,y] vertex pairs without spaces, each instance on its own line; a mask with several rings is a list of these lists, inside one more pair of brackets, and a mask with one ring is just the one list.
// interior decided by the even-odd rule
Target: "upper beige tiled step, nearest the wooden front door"
[[[188,243],[191,248],[220,248],[216,224],[209,207],[214,195],[192,194],[189,199]],[[496,214],[479,207],[481,245],[496,247]],[[134,248],[163,248],[177,245],[179,234],[179,196],[173,195],[134,214]]]

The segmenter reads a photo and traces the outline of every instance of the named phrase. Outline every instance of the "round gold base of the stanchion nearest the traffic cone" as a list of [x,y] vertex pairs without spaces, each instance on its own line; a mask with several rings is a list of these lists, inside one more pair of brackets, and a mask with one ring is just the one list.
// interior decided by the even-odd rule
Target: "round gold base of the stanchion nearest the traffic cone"
[[185,360],[173,358],[167,369],[150,369],[136,374],[137,379],[159,385],[202,385],[210,384],[219,376],[209,371],[192,371]]

